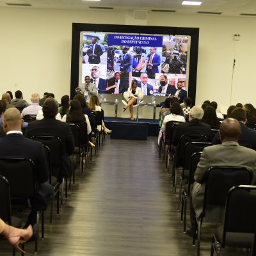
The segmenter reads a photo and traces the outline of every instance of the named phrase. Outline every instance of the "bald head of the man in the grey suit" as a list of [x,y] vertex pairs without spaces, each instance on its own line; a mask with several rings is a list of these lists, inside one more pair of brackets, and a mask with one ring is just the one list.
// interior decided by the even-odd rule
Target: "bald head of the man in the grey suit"
[[225,141],[238,141],[241,135],[241,127],[239,122],[234,118],[227,118],[221,122],[220,125],[220,140]]

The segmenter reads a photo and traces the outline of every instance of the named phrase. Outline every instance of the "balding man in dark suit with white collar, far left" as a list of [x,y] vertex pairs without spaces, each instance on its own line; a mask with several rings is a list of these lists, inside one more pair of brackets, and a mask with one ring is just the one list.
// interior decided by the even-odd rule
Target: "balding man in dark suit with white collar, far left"
[[52,195],[52,186],[47,182],[49,169],[42,143],[25,138],[21,132],[23,120],[20,111],[9,108],[3,115],[3,127],[6,136],[0,139],[0,157],[25,157],[34,161],[36,166],[35,198],[31,200],[31,212],[26,227],[36,223],[36,211],[45,210]]

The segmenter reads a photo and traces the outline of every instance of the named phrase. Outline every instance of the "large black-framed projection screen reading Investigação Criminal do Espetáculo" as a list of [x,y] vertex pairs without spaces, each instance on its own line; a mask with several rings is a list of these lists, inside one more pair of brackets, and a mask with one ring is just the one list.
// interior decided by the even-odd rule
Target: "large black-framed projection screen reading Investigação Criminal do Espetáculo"
[[[140,81],[140,72],[146,72],[148,81],[153,84],[152,90],[148,90],[147,95],[161,96],[161,93],[157,92],[157,88],[159,86],[159,76],[164,74],[168,77],[172,86],[175,86],[177,81],[183,81],[184,89],[188,91],[188,97],[195,100],[198,36],[198,28],[73,23],[70,97],[74,97],[76,87],[84,83],[84,75],[90,76],[91,72],[99,67],[100,76],[103,76],[101,80],[106,81],[104,88],[102,86],[98,88],[99,93],[116,93],[116,73],[124,79],[125,86],[128,87],[131,84],[131,79]],[[91,44],[92,40],[98,41],[94,44],[97,47]],[[180,45],[185,49],[181,49]],[[189,47],[186,45],[189,45]],[[187,50],[186,47],[189,49]],[[123,67],[122,65],[125,55],[124,48],[127,49],[127,54],[131,54],[130,60],[133,61],[131,67]],[[96,50],[100,51],[99,55],[101,56],[94,54]],[[154,56],[159,56],[160,64],[157,63],[158,66],[150,67],[150,69],[147,63],[152,61],[149,60],[149,56],[154,50],[156,50]],[[92,51],[94,55],[92,55]],[[113,61],[115,60],[114,65],[109,63],[111,52],[115,54],[115,58],[113,58]],[[188,60],[188,63],[184,61],[180,65],[180,71],[179,69],[175,70],[173,65],[166,65],[168,56],[175,60],[178,58],[180,63],[182,63],[182,60]],[[139,61],[142,66],[144,64],[144,68],[138,71],[138,68],[135,70],[134,65],[138,64]]]

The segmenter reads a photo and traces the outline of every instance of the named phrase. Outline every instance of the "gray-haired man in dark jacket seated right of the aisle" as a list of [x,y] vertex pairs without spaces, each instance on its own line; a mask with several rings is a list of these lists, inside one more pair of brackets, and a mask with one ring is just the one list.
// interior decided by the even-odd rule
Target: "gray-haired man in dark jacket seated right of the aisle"
[[204,110],[200,106],[193,106],[189,114],[189,122],[177,125],[173,134],[173,145],[177,146],[180,136],[204,135],[210,141],[212,138],[211,125],[201,123]]

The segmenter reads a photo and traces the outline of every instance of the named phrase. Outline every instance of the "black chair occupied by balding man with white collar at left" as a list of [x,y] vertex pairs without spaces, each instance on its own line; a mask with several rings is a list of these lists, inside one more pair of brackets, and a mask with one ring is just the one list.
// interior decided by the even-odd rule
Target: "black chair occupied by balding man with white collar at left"
[[[35,163],[31,159],[19,157],[1,157],[0,175],[6,177],[10,184],[12,200],[30,200],[35,198],[36,170]],[[19,209],[28,208],[28,205],[14,205]],[[35,253],[38,250],[39,219],[41,217],[41,234],[44,238],[44,211],[37,211],[35,232]]]

